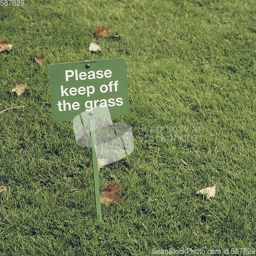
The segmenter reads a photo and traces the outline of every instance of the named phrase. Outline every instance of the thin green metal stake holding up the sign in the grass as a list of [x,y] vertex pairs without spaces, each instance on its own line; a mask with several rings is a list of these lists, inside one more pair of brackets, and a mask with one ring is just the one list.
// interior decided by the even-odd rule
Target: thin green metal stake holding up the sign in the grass
[[101,205],[99,194],[99,172],[98,172],[98,159],[97,159],[97,147],[96,147],[96,135],[95,135],[95,119],[89,119],[90,136],[92,146],[92,165],[93,165],[93,181],[94,181],[94,196],[96,206],[97,220],[101,221]]

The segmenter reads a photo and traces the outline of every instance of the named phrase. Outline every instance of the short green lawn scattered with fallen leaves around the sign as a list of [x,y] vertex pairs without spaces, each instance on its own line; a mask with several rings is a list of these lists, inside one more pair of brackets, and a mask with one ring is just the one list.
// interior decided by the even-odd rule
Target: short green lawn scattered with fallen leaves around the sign
[[[0,53],[0,111],[25,106],[0,114],[0,186],[12,187],[0,195],[2,255],[256,247],[253,1],[25,0],[0,10],[0,41],[13,45]],[[98,26],[122,37],[95,38]],[[95,40],[101,53],[89,52]],[[130,114],[113,120],[131,125],[135,149],[101,169],[101,191],[123,188],[98,223],[90,148],[76,145],[71,121],[52,121],[48,65],[121,57]],[[11,92],[25,82],[22,96]],[[215,184],[215,198],[196,195]]]

